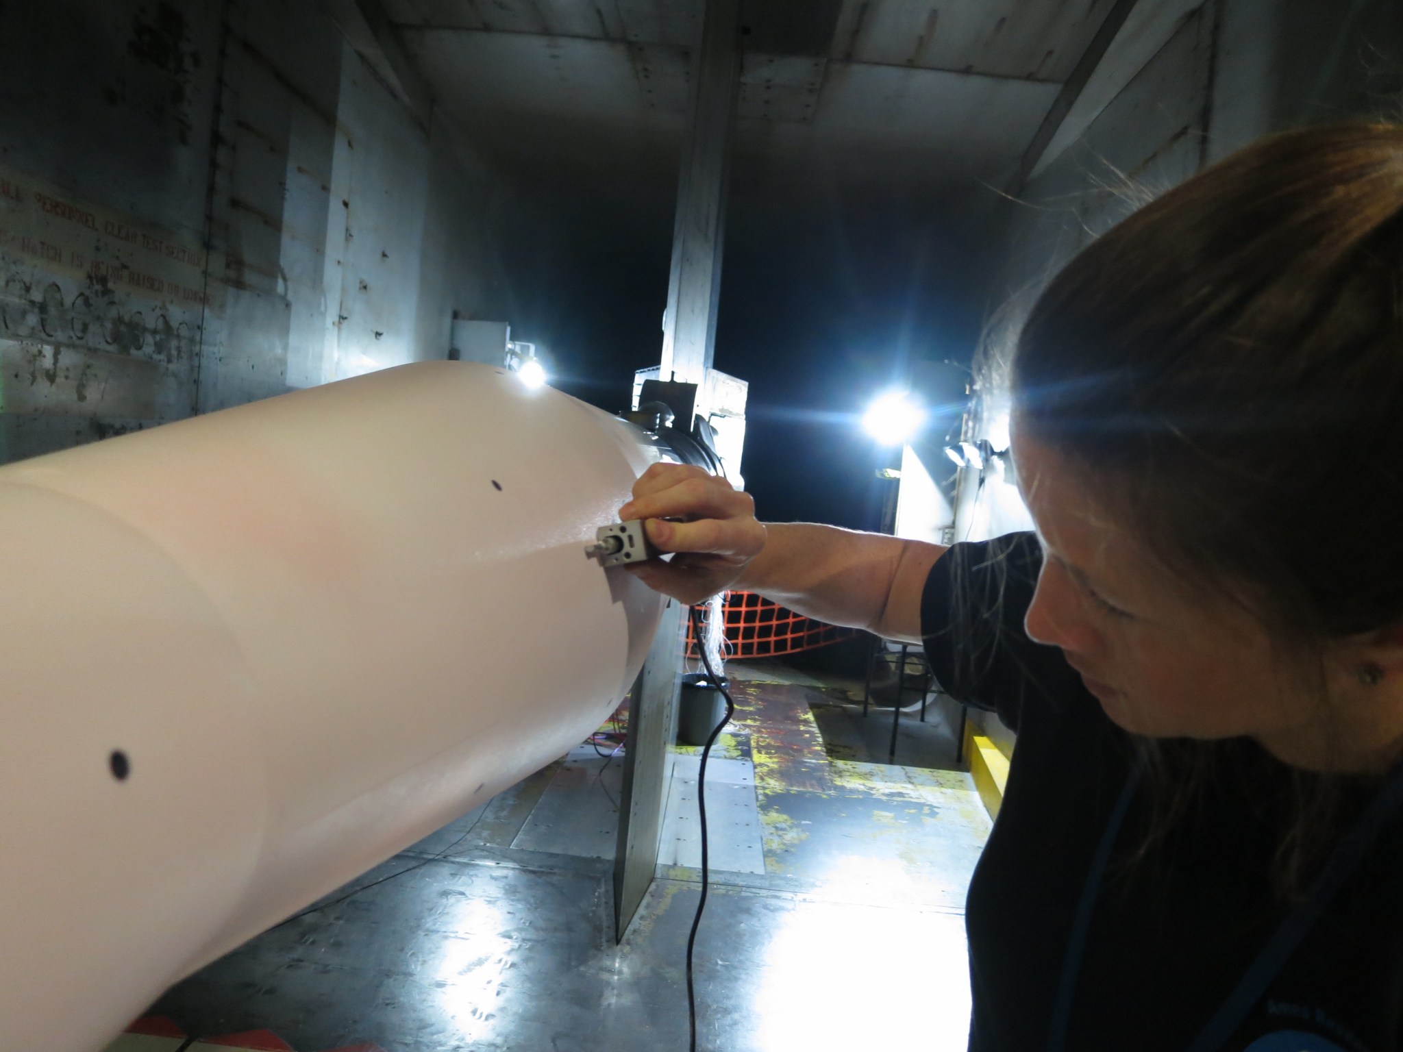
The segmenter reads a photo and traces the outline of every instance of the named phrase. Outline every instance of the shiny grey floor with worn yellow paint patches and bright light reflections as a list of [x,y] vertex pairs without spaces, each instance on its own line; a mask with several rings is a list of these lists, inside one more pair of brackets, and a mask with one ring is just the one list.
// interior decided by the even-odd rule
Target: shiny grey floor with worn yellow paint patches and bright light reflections
[[[989,829],[968,776],[833,759],[810,708],[829,694],[763,666],[731,675],[737,722],[707,778],[723,868],[697,940],[699,1046],[964,1049],[964,893]],[[694,763],[679,749],[664,864],[622,945],[619,764],[586,745],[152,1013],[195,1035],[267,1028],[299,1052],[685,1049]]]

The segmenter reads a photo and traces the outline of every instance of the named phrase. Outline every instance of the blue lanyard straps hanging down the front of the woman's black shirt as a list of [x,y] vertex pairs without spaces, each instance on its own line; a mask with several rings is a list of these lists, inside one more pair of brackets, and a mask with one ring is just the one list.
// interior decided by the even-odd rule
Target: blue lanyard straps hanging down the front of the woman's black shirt
[[[1129,777],[1125,780],[1124,788],[1121,788],[1121,795],[1111,809],[1111,816],[1106,823],[1106,830],[1101,833],[1101,840],[1096,846],[1096,854],[1092,857],[1086,884],[1082,888],[1082,898],[1076,903],[1066,955],[1062,961],[1062,979],[1058,983],[1056,1000],[1052,1006],[1047,1052],[1065,1052],[1068,1028],[1072,1023],[1072,1000],[1076,994],[1076,983],[1082,971],[1082,957],[1086,952],[1092,913],[1101,892],[1106,867],[1110,864],[1111,851],[1115,847],[1121,826],[1125,823],[1125,815],[1129,812],[1139,781],[1141,770],[1138,766],[1132,766]],[[1222,1003],[1222,1007],[1208,1021],[1208,1025],[1188,1045],[1187,1052],[1216,1052],[1232,1037],[1253,1006],[1261,1000],[1271,980],[1285,966],[1316,920],[1320,919],[1320,915],[1336,892],[1340,891],[1340,886],[1354,872],[1364,856],[1368,854],[1379,832],[1400,808],[1403,808],[1403,767],[1399,767],[1392,774],[1383,790],[1371,801],[1369,807],[1330,857],[1310,896],[1281,922],[1280,927],[1277,927],[1275,933],[1261,948],[1261,952],[1257,954],[1257,959],[1251,962],[1242,980],[1228,996],[1228,1000]]]

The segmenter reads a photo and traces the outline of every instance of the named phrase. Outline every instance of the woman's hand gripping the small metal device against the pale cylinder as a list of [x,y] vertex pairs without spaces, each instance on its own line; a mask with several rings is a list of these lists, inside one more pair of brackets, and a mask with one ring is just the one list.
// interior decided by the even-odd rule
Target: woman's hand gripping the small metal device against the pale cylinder
[[720,476],[687,464],[654,464],[633,484],[620,520],[644,519],[644,532],[671,561],[627,567],[648,588],[700,603],[734,585],[765,547],[755,501]]

